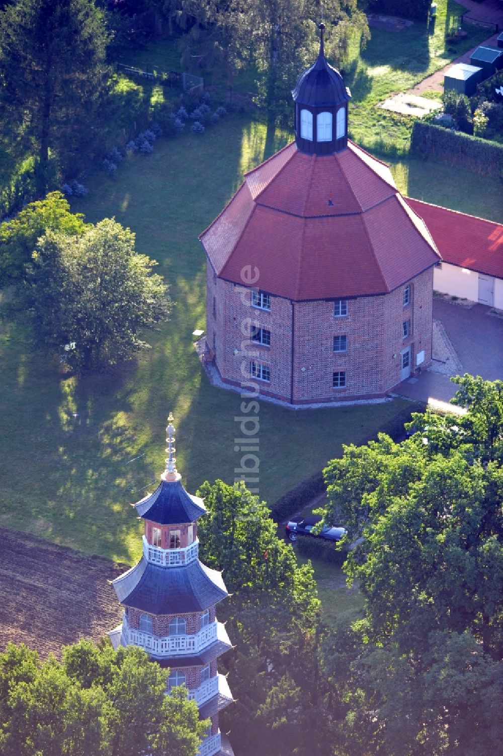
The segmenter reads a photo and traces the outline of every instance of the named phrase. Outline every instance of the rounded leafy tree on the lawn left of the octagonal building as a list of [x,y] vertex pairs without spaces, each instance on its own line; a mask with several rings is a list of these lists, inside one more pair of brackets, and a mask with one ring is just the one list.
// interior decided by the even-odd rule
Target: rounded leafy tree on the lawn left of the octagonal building
[[130,358],[144,327],[166,321],[167,287],[135,234],[110,218],[80,236],[48,231],[36,246],[20,302],[39,346],[85,370]]

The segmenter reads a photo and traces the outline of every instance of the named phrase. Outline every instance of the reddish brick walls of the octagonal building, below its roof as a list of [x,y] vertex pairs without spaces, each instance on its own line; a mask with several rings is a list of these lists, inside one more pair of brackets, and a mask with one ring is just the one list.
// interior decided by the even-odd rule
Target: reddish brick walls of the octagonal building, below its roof
[[[419,352],[422,367],[430,364],[433,268],[390,293],[347,299],[343,317],[334,316],[334,300],[271,296],[270,311],[253,307],[249,289],[216,277],[210,262],[207,268],[207,343],[215,342],[217,370],[232,386],[250,390],[254,383],[260,393],[291,404],[379,398],[402,380],[404,349],[411,348],[411,374]],[[410,302],[404,307],[405,286]],[[270,346],[250,342],[250,324],[270,331]],[[346,336],[345,352],[334,352],[334,336]],[[269,367],[269,382],[250,377],[250,360]],[[334,372],[346,374],[346,386],[333,388]]]

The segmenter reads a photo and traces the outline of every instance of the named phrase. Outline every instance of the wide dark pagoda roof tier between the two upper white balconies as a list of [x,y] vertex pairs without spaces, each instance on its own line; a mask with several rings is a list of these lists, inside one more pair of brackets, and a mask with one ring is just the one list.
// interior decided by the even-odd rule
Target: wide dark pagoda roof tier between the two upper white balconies
[[154,615],[203,612],[228,595],[222,575],[199,559],[165,569],[142,556],[112,584],[121,604]]

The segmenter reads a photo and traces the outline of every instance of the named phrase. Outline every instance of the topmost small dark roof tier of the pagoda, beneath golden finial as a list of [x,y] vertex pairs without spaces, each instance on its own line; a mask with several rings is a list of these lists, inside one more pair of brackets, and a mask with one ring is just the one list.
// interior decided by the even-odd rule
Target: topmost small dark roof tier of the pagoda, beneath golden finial
[[188,494],[179,478],[173,481],[162,480],[154,493],[138,501],[135,507],[142,519],[157,522],[159,525],[194,522],[206,514],[203,500]]

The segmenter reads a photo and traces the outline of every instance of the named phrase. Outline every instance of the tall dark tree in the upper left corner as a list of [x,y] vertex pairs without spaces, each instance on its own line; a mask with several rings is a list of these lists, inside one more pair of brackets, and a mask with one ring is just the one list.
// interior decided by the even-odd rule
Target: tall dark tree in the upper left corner
[[107,31],[92,0],[17,0],[0,13],[2,119],[38,156],[39,195],[49,157],[63,163],[95,138]]

